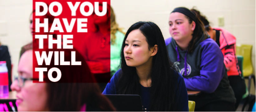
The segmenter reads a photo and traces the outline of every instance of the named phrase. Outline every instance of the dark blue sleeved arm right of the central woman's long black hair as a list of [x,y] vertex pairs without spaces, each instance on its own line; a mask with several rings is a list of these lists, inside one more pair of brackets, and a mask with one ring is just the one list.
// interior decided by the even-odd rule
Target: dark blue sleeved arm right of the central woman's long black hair
[[[180,75],[180,73],[179,73]],[[188,112],[188,94],[187,94],[187,89],[186,85],[184,82],[184,78],[180,75],[180,80],[179,80],[179,93],[177,94],[176,100],[178,101],[178,110],[180,112]]]

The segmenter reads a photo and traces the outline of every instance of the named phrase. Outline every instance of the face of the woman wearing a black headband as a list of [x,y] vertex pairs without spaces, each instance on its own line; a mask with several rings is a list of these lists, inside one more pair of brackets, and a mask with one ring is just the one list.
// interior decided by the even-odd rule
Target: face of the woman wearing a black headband
[[190,24],[186,16],[180,12],[172,12],[170,14],[169,31],[171,37],[176,41],[191,40],[195,29],[193,25],[194,24]]

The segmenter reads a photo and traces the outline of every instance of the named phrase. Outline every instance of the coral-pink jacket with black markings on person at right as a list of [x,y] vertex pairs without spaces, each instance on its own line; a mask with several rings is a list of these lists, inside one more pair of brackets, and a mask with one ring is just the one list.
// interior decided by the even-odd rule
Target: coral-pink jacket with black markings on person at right
[[228,76],[241,74],[238,61],[235,55],[236,38],[229,31],[223,28],[213,28],[220,30],[220,49],[224,56],[224,63],[228,69]]

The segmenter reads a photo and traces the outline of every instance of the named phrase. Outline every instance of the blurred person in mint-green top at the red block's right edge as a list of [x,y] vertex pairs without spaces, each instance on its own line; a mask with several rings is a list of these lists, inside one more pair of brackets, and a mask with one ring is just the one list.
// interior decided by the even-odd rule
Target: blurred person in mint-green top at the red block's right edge
[[112,7],[110,7],[110,73],[111,77],[114,73],[120,69],[120,52],[122,49],[123,38],[125,32],[119,28],[115,13]]

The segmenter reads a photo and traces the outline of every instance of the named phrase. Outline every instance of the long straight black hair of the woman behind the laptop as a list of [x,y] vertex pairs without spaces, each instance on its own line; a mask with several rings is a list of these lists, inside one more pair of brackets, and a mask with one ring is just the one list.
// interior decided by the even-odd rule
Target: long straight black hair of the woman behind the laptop
[[177,99],[175,99],[177,83],[177,70],[170,61],[167,48],[160,28],[153,22],[137,22],[133,24],[127,31],[121,51],[122,74],[119,75],[117,83],[117,94],[135,94],[140,95],[139,77],[135,67],[126,64],[123,50],[125,40],[128,34],[139,29],[146,37],[149,48],[158,46],[158,51],[152,60],[151,87],[150,87],[150,111],[176,111]]

